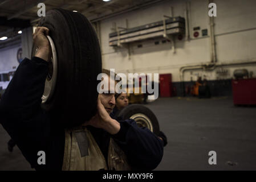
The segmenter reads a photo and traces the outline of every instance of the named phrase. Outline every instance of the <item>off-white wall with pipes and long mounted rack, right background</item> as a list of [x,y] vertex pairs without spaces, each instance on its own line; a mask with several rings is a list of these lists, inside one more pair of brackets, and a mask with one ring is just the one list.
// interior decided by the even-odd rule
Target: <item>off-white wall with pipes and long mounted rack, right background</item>
[[[102,20],[100,22],[101,52],[103,67],[115,68],[116,72],[123,73],[172,73],[173,81],[180,81],[180,68],[185,65],[209,63],[210,38],[209,36],[193,38],[193,27],[200,26],[201,30],[209,29],[208,1],[193,0],[190,2],[190,35],[191,40],[176,40],[176,53],[173,53],[172,44],[160,42],[155,45],[155,40],[131,44],[131,55],[127,48],[113,48],[108,45],[108,35],[113,32],[113,22],[119,27],[141,26],[143,24],[162,20],[163,15],[170,15],[170,6],[173,6],[173,15],[185,17],[185,0],[165,1],[148,7]],[[256,1],[255,0],[216,0],[217,17],[215,21],[216,52],[218,63],[230,61],[256,61]],[[201,34],[200,30],[200,34]],[[142,48],[137,48],[143,44]],[[256,65],[229,66],[229,74],[220,77],[215,71],[186,71],[185,81],[205,75],[208,80],[231,78],[234,69],[246,68],[256,76]],[[191,75],[192,74],[192,75]]]

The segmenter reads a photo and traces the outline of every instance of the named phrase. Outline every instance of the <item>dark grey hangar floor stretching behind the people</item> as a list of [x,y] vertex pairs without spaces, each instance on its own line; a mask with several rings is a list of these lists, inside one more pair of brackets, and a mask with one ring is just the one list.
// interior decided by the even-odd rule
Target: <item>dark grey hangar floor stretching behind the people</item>
[[[159,98],[146,105],[168,138],[156,170],[256,170],[256,107],[235,107],[232,98]],[[0,170],[31,170],[0,125]],[[209,165],[209,151],[217,164]]]

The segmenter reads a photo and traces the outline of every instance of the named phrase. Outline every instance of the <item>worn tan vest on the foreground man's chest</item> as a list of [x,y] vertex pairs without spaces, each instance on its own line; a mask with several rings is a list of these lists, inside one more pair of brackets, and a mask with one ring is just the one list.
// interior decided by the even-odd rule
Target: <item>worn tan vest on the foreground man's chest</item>
[[[81,156],[75,132],[85,131],[88,143],[88,155]],[[97,170],[127,171],[131,167],[127,163],[127,156],[111,138],[108,148],[108,162],[105,161],[94,137],[86,127],[83,129],[65,130],[65,148],[62,164],[63,171],[97,171]]]

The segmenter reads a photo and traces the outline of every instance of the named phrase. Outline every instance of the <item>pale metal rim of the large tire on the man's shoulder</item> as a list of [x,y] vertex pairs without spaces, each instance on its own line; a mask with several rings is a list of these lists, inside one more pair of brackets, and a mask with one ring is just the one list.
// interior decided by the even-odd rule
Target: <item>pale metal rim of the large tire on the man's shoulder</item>
[[[46,81],[44,83],[42,104],[51,100],[52,95],[54,94],[56,79],[57,79],[57,72],[58,72],[58,59],[57,59],[56,48],[51,37],[47,35],[47,39],[50,42],[52,56],[48,64],[48,72],[46,76]],[[33,55],[35,55],[37,50],[38,50],[37,48],[33,50],[34,51]]]

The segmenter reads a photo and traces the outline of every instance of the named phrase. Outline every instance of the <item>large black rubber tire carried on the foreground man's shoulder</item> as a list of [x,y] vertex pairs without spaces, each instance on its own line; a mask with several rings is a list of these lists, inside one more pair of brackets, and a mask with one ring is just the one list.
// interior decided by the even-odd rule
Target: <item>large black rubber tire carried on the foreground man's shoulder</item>
[[82,14],[63,9],[47,11],[38,26],[50,30],[58,57],[55,92],[42,108],[64,127],[81,125],[96,113],[101,52],[95,30]]

